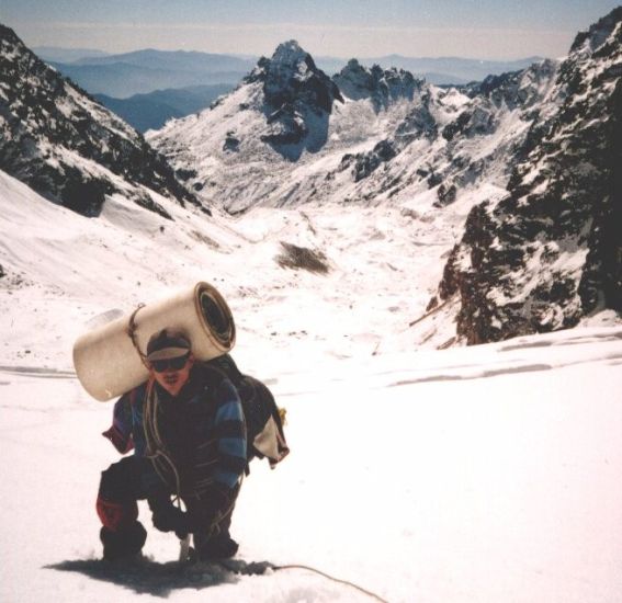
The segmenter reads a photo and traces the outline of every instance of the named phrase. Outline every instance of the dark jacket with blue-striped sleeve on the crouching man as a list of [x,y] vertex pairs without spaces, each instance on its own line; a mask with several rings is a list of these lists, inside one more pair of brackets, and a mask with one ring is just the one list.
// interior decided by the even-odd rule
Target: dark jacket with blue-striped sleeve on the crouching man
[[[154,382],[128,391],[115,403],[113,425],[104,432],[121,453],[133,447],[138,456],[156,452],[147,450],[145,432],[150,387],[158,400],[158,432],[179,475],[182,498],[203,498],[214,487],[233,492],[247,468],[247,432],[231,382],[196,362],[189,382],[174,398]],[[176,485],[168,486],[174,491]]]

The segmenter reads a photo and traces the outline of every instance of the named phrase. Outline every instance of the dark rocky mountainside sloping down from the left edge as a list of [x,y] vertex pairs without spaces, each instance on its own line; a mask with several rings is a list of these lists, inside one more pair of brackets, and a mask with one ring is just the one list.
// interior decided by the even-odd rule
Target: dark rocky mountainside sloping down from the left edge
[[0,169],[84,216],[99,215],[104,196],[123,191],[170,217],[140,185],[181,204],[197,203],[139,134],[2,25]]

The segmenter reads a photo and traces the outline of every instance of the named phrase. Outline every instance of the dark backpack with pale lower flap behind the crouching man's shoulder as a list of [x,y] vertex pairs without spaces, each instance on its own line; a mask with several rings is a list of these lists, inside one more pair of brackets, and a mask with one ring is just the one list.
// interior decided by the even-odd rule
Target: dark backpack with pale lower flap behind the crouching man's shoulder
[[223,373],[235,386],[241,400],[247,429],[247,458],[268,458],[270,467],[290,453],[283,432],[284,412],[274,396],[259,379],[240,373],[236,363],[225,354],[206,364]]

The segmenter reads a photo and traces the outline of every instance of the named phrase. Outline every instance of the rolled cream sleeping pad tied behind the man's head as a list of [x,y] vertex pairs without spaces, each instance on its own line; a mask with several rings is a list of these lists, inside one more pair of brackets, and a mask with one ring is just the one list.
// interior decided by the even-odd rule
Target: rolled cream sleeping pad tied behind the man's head
[[236,341],[234,317],[224,297],[212,285],[197,283],[78,338],[73,366],[82,387],[104,402],[144,383],[149,371],[142,355],[149,338],[165,328],[185,332],[199,360],[220,356]]

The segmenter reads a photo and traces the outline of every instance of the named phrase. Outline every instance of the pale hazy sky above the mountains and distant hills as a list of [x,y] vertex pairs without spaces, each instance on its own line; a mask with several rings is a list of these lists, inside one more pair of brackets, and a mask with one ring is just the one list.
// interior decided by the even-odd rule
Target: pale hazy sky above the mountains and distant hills
[[29,46],[317,56],[558,57],[614,0],[0,0]]

